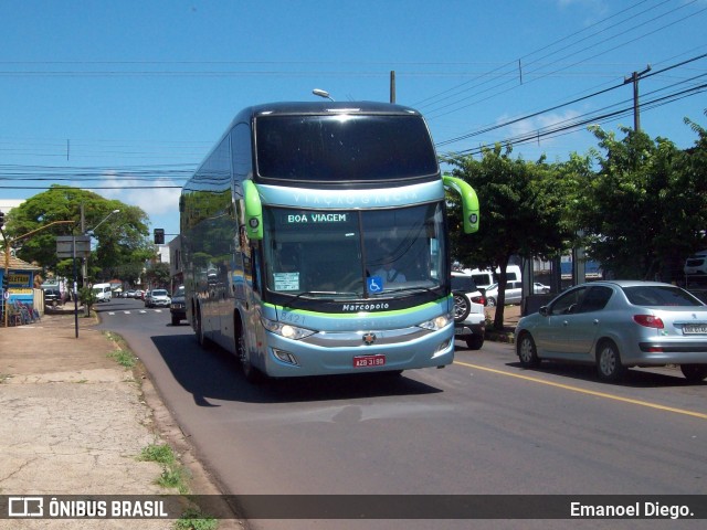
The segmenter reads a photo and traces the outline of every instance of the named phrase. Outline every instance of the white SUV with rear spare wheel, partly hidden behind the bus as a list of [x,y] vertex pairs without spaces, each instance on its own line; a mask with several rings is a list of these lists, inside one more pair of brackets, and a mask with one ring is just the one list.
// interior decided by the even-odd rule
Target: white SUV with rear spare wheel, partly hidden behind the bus
[[454,338],[463,340],[472,350],[484,346],[486,336],[486,297],[469,274],[452,273],[454,295]]

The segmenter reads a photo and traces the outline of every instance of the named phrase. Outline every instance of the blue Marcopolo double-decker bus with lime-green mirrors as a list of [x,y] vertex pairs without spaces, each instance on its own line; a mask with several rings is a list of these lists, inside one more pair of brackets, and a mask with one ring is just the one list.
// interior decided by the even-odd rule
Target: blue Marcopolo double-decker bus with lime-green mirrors
[[187,319],[246,379],[444,367],[454,357],[445,188],[420,113],[245,108],[183,187]]

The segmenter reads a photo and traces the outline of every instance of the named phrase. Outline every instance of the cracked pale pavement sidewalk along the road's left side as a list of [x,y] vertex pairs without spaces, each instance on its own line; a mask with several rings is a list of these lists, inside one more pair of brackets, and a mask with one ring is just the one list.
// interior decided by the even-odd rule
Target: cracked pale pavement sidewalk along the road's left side
[[[169,444],[190,471],[192,494],[218,495],[141,365],[126,369],[94,318],[44,315],[0,328],[0,495],[177,495],[156,484],[162,466],[138,459]],[[170,529],[176,520],[3,521],[12,528]],[[3,527],[9,528],[9,527]],[[220,529],[242,528],[234,519]]]

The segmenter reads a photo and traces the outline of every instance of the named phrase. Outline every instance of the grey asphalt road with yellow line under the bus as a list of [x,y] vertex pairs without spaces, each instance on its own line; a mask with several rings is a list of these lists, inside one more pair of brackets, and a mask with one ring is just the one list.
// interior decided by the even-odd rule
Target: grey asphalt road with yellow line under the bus
[[[707,494],[707,384],[690,385],[678,370],[631,370],[623,383],[605,384],[584,367],[524,370],[510,344],[487,341],[471,351],[457,342],[456,360],[444,370],[253,386],[231,356],[200,349],[188,325],[171,326],[168,310],[124,299],[98,310],[102,327],[120,333],[144,361],[229,494]],[[430,521],[299,522],[253,527],[431,528]],[[665,522],[572,521],[572,528]],[[567,528],[567,521],[473,526]]]

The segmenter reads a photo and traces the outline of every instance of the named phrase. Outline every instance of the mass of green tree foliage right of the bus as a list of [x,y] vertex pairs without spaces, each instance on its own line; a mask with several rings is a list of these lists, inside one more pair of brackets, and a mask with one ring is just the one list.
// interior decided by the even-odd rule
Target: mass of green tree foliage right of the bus
[[614,277],[677,279],[685,257],[707,248],[707,130],[686,124],[698,136],[687,150],[629,128],[616,139],[593,127],[598,148],[566,162],[513,159],[500,146],[481,160],[450,158],[453,174],[478,193],[482,215],[478,233],[463,235],[449,195],[453,256],[505,271],[511,255],[550,258],[587,245]]

